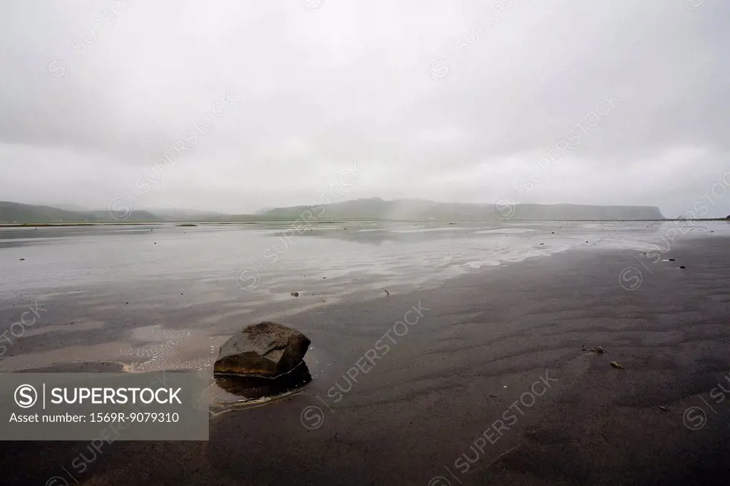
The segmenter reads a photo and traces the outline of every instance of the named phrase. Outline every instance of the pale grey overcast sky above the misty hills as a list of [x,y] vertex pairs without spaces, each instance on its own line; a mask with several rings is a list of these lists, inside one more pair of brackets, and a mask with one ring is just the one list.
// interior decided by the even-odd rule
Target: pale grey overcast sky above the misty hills
[[3,9],[0,200],[253,212],[357,163],[331,200],[730,214],[724,0]]

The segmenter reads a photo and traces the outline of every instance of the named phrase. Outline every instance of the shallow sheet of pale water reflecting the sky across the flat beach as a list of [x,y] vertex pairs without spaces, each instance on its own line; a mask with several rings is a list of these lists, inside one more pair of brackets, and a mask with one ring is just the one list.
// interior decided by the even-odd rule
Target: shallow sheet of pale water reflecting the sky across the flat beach
[[[134,371],[209,370],[251,321],[434,288],[484,267],[585,248],[648,249],[671,222],[288,223],[0,228],[4,370],[117,360]],[[723,222],[692,234],[730,234]],[[21,260],[23,259],[23,260]],[[242,269],[251,280],[242,282]],[[293,297],[293,292],[299,293]]]

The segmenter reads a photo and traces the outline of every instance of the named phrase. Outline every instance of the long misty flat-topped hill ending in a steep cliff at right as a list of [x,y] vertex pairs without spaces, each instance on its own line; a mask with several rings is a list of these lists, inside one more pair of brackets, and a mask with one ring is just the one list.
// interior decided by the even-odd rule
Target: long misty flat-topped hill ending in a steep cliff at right
[[320,220],[408,220],[408,221],[493,221],[493,220],[663,220],[658,207],[587,206],[578,204],[456,204],[424,199],[357,199],[326,206],[296,206],[271,209],[266,217],[295,220],[312,212]]

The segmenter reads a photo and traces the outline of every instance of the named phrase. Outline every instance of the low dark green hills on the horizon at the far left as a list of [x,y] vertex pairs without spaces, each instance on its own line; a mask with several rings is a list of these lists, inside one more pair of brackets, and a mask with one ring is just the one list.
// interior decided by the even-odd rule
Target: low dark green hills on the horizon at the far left
[[[160,217],[147,211],[133,211],[128,222],[155,222]],[[115,223],[109,211],[67,211],[50,206],[0,201],[0,223]]]

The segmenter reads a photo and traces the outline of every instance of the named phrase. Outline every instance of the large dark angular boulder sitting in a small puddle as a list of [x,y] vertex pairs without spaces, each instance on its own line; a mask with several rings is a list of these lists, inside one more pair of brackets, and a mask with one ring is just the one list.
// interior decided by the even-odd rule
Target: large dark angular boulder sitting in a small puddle
[[247,325],[220,347],[214,374],[274,378],[296,368],[310,339],[296,329],[269,321]]

